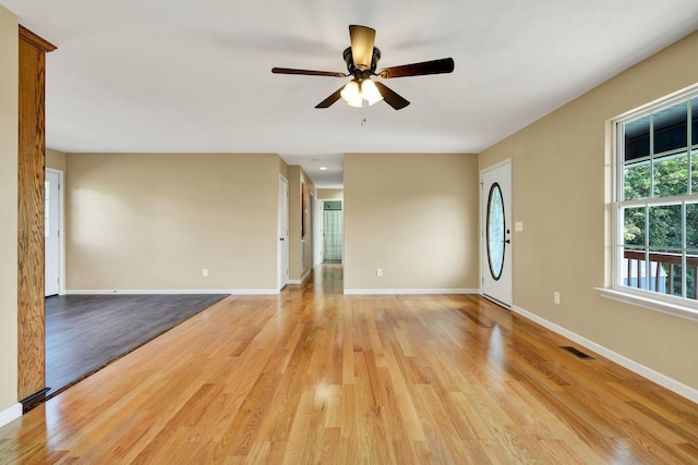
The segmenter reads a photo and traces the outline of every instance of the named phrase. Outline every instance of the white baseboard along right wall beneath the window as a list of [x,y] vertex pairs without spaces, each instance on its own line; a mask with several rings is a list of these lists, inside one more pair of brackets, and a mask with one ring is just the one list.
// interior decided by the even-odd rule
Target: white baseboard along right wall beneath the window
[[569,339],[570,341],[574,341],[577,344],[585,346],[586,348],[589,348],[590,351],[595,352],[597,354],[610,359],[611,362],[614,362],[621,365],[622,367],[627,368],[630,371],[643,378],[647,378],[650,381],[653,381],[669,389],[670,391],[675,392],[676,394],[683,397],[688,399],[691,402],[698,403],[698,390],[693,389],[689,386],[686,386],[679,381],[676,381],[675,379],[670,378],[666,375],[662,375],[661,372],[655,371],[652,368],[648,368],[645,365],[641,365],[630,358],[627,358],[618,354],[617,352],[613,352],[612,350],[604,347],[603,345],[598,344],[593,341],[590,341],[587,338],[581,336],[575,332],[571,332],[568,329],[565,329],[558,325],[555,325],[554,322],[547,321],[546,319],[543,319],[535,314],[525,310],[521,307],[517,307],[516,305],[514,305],[512,306],[512,311],[515,311],[521,315],[522,317],[531,321],[534,321],[540,326],[547,328],[549,330],[556,332],[557,334],[563,335]]

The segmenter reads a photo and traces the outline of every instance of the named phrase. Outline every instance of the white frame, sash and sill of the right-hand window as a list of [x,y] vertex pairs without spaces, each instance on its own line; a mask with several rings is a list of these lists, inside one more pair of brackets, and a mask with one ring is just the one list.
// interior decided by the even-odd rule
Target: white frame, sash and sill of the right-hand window
[[[698,299],[690,299],[681,296],[674,296],[663,294],[653,291],[646,291],[641,289],[630,287],[623,285],[622,266],[624,260],[624,217],[623,209],[627,207],[642,207],[642,206],[659,206],[659,205],[686,205],[686,201],[695,203],[698,199],[698,180],[694,180],[693,192],[694,194],[664,198],[645,198],[636,200],[624,200],[624,143],[623,125],[634,120],[638,120],[648,114],[654,113],[664,108],[669,108],[673,105],[679,103],[684,100],[689,100],[698,97],[698,85],[691,86],[683,91],[679,91],[671,97],[663,98],[652,105],[646,106],[636,111],[631,111],[621,118],[615,119],[612,122],[613,130],[613,205],[612,205],[612,235],[613,235],[613,253],[612,256],[612,279],[611,286],[607,289],[599,289],[601,295],[604,297],[613,298],[616,301],[629,303],[643,308],[687,318],[698,321]],[[690,111],[690,110],[689,110]],[[693,150],[698,149],[698,146],[690,145],[690,122],[688,123],[688,159],[691,159]],[[689,170],[691,169],[689,162]],[[686,218],[684,216],[684,222]],[[687,225],[686,225],[687,227]],[[685,243],[684,243],[685,246]],[[646,279],[649,279],[650,262],[646,260]],[[686,270],[685,261],[683,270]],[[639,279],[639,277],[638,277]],[[685,284],[685,273],[683,276]]]

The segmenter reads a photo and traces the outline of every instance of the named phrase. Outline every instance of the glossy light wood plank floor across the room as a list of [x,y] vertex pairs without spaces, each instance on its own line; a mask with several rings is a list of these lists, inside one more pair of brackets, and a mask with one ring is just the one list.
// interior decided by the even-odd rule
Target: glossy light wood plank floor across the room
[[220,301],[0,429],[0,463],[698,463],[698,405],[478,296],[340,280]]

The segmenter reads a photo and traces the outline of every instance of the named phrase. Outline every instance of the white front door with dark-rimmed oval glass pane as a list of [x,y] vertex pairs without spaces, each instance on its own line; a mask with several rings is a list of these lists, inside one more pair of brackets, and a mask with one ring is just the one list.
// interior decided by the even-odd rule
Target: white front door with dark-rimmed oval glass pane
[[512,161],[480,173],[482,294],[512,306]]

